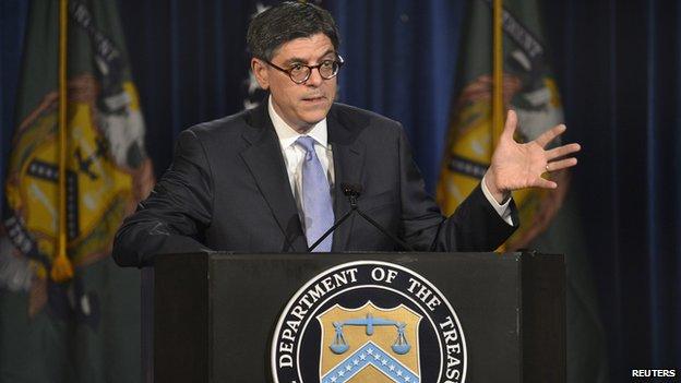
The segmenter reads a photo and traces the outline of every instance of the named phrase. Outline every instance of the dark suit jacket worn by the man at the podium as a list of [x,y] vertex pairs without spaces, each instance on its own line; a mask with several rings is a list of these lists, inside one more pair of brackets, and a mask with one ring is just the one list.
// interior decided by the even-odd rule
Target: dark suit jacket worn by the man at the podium
[[[336,218],[350,206],[342,183],[362,187],[359,208],[422,251],[491,251],[515,229],[480,187],[449,218],[428,195],[398,122],[334,104],[327,115]],[[517,216],[514,212],[514,223]],[[201,250],[306,252],[267,104],[183,131],[171,166],[116,235],[120,265],[156,253]],[[333,251],[391,251],[395,244],[354,215],[333,234]]]

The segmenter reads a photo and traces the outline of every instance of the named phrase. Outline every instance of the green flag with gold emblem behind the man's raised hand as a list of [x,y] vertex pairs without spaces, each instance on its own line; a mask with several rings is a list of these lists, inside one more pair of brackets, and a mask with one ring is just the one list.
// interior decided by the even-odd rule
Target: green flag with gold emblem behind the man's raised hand
[[[537,0],[505,0],[503,104],[518,116],[516,140],[528,142],[563,121]],[[438,200],[447,214],[480,182],[492,155],[492,1],[468,2],[458,64],[461,86],[452,109]],[[558,143],[555,143],[558,144]],[[558,190],[514,192],[521,227],[506,250],[565,254],[568,274],[568,382],[608,381],[606,340],[578,212],[569,193],[570,172],[552,175]]]

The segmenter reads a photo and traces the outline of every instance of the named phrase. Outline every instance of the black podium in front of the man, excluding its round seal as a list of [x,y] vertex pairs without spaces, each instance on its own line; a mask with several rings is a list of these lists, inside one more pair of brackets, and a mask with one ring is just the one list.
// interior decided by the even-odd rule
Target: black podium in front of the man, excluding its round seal
[[[564,260],[535,253],[157,256],[145,287],[154,295],[153,313],[143,313],[154,324],[146,381],[273,382],[273,334],[291,297],[320,273],[358,261],[404,267],[437,286],[465,335],[465,382],[565,382]],[[428,366],[420,368],[430,382]]]

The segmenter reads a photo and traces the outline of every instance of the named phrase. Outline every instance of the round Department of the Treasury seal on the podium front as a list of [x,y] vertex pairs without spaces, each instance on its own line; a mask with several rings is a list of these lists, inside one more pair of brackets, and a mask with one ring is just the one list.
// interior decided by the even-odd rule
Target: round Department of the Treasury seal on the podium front
[[463,383],[467,351],[454,309],[416,272],[357,261],[290,299],[272,339],[276,383]]

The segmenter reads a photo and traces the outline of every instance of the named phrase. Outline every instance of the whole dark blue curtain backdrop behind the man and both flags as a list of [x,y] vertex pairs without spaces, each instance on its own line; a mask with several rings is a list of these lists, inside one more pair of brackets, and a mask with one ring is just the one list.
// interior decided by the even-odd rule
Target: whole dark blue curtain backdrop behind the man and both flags
[[[249,92],[254,1],[118,0],[157,172],[184,128],[236,112]],[[13,124],[25,0],[0,1],[0,139]],[[347,65],[340,100],[404,123],[433,190],[466,1],[326,1]],[[573,188],[608,334],[611,380],[681,371],[681,5],[676,0],[545,1]],[[250,89],[252,91],[252,89]],[[2,294],[0,291],[0,294]]]

